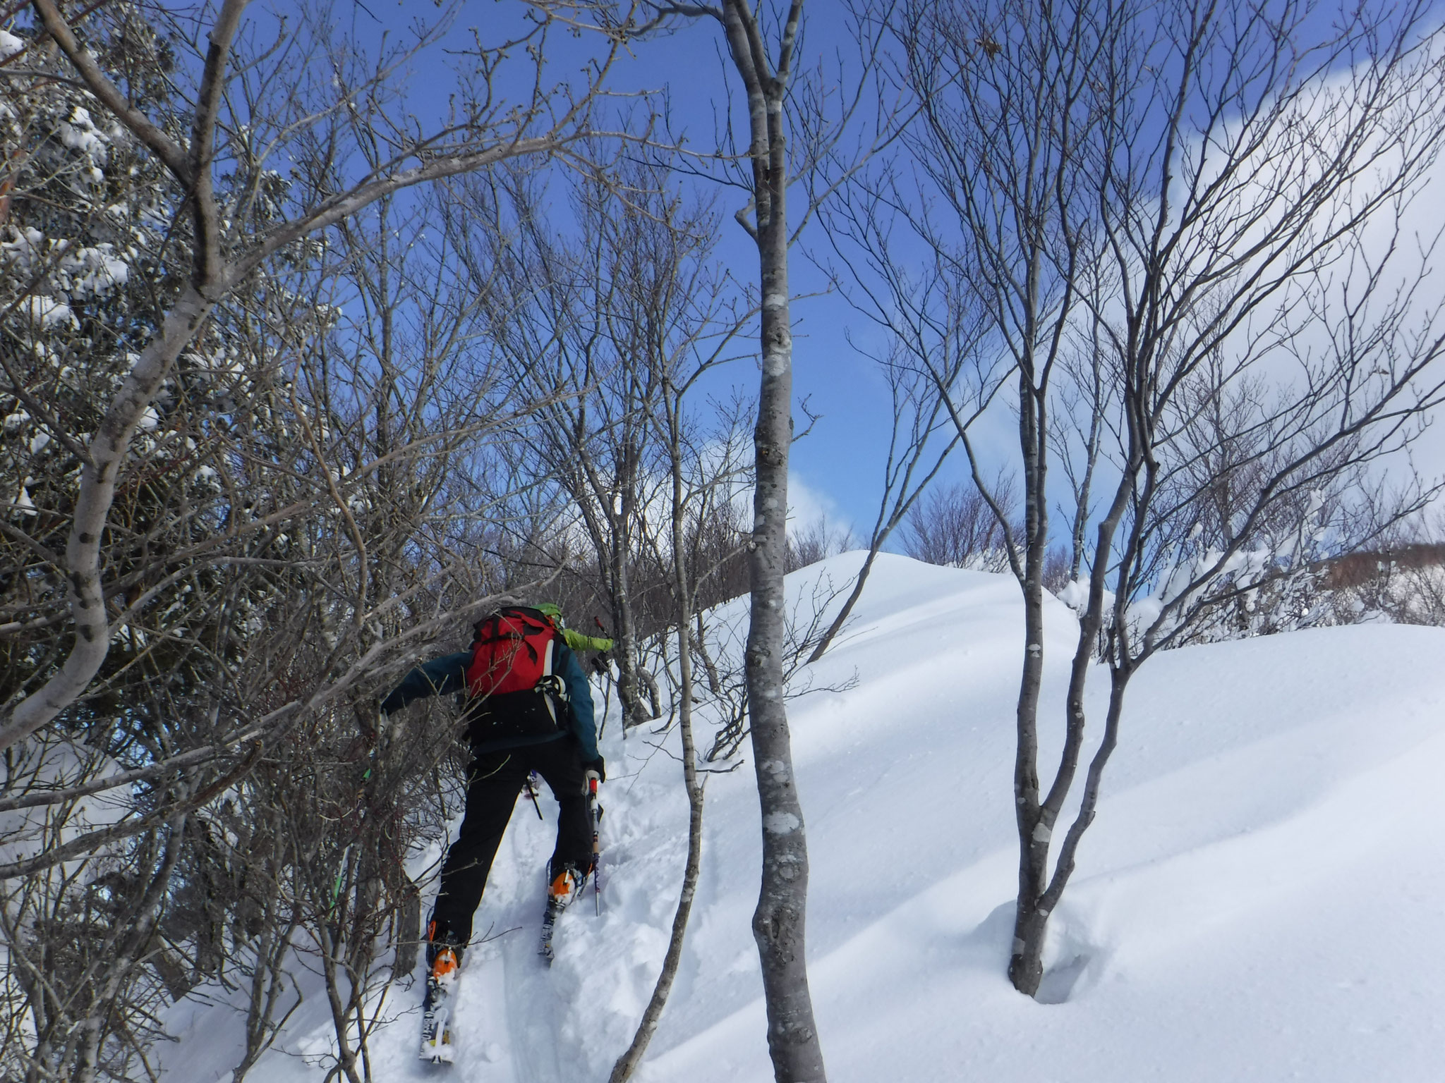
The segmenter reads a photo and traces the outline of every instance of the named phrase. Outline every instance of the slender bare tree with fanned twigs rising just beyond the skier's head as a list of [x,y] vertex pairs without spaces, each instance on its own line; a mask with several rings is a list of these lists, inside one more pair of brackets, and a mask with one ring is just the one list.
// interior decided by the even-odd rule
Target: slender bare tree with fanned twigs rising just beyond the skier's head
[[[460,230],[470,230],[468,263],[488,312],[493,341],[516,374],[543,401],[523,456],[533,474],[555,478],[566,510],[581,523],[597,560],[617,641],[617,695],[623,725],[656,715],[646,705],[637,671],[639,640],[655,631],[642,617],[646,583],[633,583],[636,526],[647,484],[643,477],[646,413],[659,394],[644,362],[660,313],[686,297],[692,283],[675,282],[676,258],[659,254],[656,235],[691,237],[686,224],[655,218],[646,168],[597,172],[569,189],[575,240],[558,235],[545,193],[529,178],[506,186],[470,186]],[[636,195],[614,198],[613,191]],[[458,208],[460,209],[460,208]],[[451,214],[451,212],[449,212]],[[486,283],[486,284],[483,284]]]

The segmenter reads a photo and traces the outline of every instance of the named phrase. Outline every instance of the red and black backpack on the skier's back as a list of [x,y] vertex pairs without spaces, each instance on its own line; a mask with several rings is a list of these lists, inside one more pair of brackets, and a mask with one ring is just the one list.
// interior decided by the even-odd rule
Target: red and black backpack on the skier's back
[[546,736],[562,725],[566,686],[553,671],[556,627],[539,609],[510,606],[477,622],[467,666],[473,741]]

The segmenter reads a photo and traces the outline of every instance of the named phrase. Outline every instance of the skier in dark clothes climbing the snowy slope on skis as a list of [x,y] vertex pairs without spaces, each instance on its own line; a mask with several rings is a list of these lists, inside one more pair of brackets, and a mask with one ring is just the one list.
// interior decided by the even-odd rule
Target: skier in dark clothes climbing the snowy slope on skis
[[465,699],[473,754],[467,810],[447,851],[426,926],[422,1056],[432,1060],[449,1060],[444,1004],[517,794],[536,771],[559,807],[542,941],[542,954],[551,960],[552,924],[592,868],[590,799],[607,777],[597,751],[592,693],[574,650],[610,650],[613,641],[566,628],[551,604],[500,608],[478,621],[474,632],[468,650],[413,669],[380,703],[381,715],[392,715],[425,696],[461,693]]

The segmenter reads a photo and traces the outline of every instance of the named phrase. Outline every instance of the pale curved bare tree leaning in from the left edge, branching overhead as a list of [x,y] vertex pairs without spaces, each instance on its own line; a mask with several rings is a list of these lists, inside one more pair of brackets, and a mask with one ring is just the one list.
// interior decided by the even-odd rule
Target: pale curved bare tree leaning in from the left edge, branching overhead
[[[496,64],[490,61],[500,61],[507,52],[507,46],[500,46],[486,53],[471,72],[474,81],[460,123],[444,126],[432,136],[392,129],[384,143],[384,160],[373,165],[364,155],[353,156],[347,143],[357,126],[386,130],[384,103],[379,91],[386,85],[387,65],[381,64],[371,72],[357,72],[354,65],[332,69],[329,59],[318,56],[335,77],[318,81],[325,87],[325,91],[318,91],[322,97],[308,100],[305,94],[293,92],[288,103],[277,103],[280,87],[298,87],[295,72],[292,78],[276,79],[270,85],[267,79],[275,65],[293,64],[292,49],[269,51],[256,64],[233,65],[231,53],[244,10],[246,0],[228,0],[217,12],[208,45],[197,56],[195,105],[153,120],[103,71],[52,0],[35,4],[38,27],[64,53],[72,69],[71,78],[85,85],[95,107],[143,144],[184,192],[184,208],[176,209],[184,211],[186,230],[179,231],[172,244],[186,245],[191,267],[185,284],[163,306],[153,338],[140,351],[85,443],[64,557],[77,638],[42,687],[6,705],[0,713],[0,747],[9,747],[51,722],[81,695],[105,658],[113,630],[105,617],[101,559],[107,516],[120,472],[146,410],[217,305],[267,261],[384,195],[519,156],[565,150],[587,134],[592,95],[617,48],[614,43],[613,52],[588,69],[585,85],[561,110],[540,90],[530,103],[513,110],[491,92]],[[549,25],[545,17],[548,6],[532,4],[532,10],[543,16],[530,33],[540,43]],[[117,12],[117,19],[139,17],[130,9]],[[610,16],[601,10],[598,14]],[[298,23],[302,27],[308,25],[306,20]],[[312,30],[325,33],[327,27],[312,25]],[[428,33],[435,36],[435,32]],[[280,42],[282,46],[288,43],[298,51],[305,48],[295,38]],[[431,42],[423,38],[422,43]],[[325,52],[321,39],[309,45]],[[540,64],[540,53],[536,55]],[[353,81],[353,77],[358,78]],[[249,105],[244,116],[234,124],[221,123],[223,113],[231,107],[228,103],[241,101]],[[256,108],[264,105],[269,110],[273,104],[277,105],[276,113]],[[275,121],[266,124],[267,117],[275,117]],[[173,131],[189,131],[189,140],[179,142],[169,134]],[[282,153],[299,163],[301,168],[293,172],[309,178],[314,188],[309,192],[293,189],[295,212],[253,232],[247,228],[250,219],[244,211],[270,176],[270,157]],[[218,183],[218,170],[227,170],[231,179]],[[342,186],[332,188],[329,182],[338,172],[347,173],[348,179]]]

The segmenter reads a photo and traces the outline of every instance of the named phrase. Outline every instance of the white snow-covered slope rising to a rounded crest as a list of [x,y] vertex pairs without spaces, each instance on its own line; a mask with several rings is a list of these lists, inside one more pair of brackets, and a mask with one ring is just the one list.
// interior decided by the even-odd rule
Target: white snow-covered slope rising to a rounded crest
[[[806,569],[795,589],[841,583],[858,559]],[[1072,615],[1049,617],[1056,738]],[[831,1079],[1445,1079],[1445,631],[1334,628],[1150,661],[1055,915],[1055,1004],[1003,973],[1020,637],[1010,579],[884,556],[816,667],[818,686],[854,673],[857,686],[792,705]],[[467,960],[458,1083],[603,1080],[650,993],[686,807],[668,742],[624,747],[608,729],[604,913],[584,898],[542,967],[552,823],[519,806],[477,921],[517,931]],[[708,783],[699,898],[640,1079],[772,1079],[749,930],[757,869],[749,765]],[[396,1022],[371,1040],[380,1080],[432,1071],[415,1060],[418,999],[390,996]],[[166,1079],[228,1079],[225,1008],[172,1025]],[[325,1050],[328,1030],[314,998],[251,1077],[319,1083],[295,1054]]]

